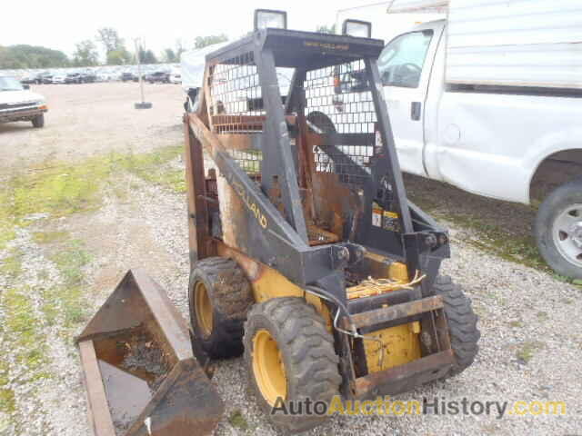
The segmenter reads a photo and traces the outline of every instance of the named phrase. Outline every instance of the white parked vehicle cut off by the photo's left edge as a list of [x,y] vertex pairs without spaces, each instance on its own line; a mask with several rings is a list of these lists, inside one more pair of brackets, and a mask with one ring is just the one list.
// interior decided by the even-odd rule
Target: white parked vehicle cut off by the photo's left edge
[[45,126],[45,97],[30,91],[13,76],[0,76],[0,123],[30,121],[36,128]]

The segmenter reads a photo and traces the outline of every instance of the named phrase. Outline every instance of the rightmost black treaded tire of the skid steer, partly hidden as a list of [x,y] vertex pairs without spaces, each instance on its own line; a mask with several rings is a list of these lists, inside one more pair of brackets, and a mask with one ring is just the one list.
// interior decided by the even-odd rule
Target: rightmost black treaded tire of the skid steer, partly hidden
[[481,332],[477,329],[477,315],[473,312],[471,301],[465,292],[447,275],[439,275],[433,289],[437,295],[443,296],[451,348],[456,358],[453,368],[445,378],[454,377],[471,366],[479,351],[477,342]]

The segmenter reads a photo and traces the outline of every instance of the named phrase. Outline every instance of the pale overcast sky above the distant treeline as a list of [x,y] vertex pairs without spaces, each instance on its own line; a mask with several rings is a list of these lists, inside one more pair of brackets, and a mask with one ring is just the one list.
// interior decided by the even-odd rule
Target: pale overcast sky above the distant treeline
[[[284,9],[288,27],[316,30],[333,25],[338,9],[378,3],[374,0],[7,0],[0,6],[0,45],[44,45],[72,54],[75,43],[95,40],[100,27],[114,27],[133,50],[141,36],[159,54],[182,39],[191,48],[196,36],[237,38],[252,30],[256,8]],[[386,2],[389,3],[389,2]]]

